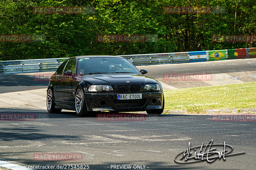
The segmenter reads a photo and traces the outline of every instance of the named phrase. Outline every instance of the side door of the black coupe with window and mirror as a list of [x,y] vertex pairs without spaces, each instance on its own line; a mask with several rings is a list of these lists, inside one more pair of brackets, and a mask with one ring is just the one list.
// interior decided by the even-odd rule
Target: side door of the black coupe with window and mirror
[[[62,78],[58,81],[58,97],[59,102],[62,104],[73,105],[75,104],[72,100],[72,92],[74,91],[73,87],[73,75],[76,70],[76,59],[69,59],[62,74]],[[71,71],[71,74],[65,74],[65,72]],[[69,106],[68,106],[69,107]]]

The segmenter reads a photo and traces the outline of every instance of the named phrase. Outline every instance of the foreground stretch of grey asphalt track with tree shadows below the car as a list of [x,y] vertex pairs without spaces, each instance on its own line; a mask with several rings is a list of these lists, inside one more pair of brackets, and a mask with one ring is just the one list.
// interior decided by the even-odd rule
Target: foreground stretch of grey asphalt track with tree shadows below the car
[[[1,109],[1,113],[30,113],[35,121],[1,121],[1,159],[25,165],[146,165],[145,169],[254,169],[255,122],[212,121],[210,115],[160,115],[144,121],[97,121],[74,112]],[[177,164],[175,156],[213,139],[245,154],[214,163]],[[36,153],[82,153],[81,161],[35,161]],[[109,168],[108,168],[109,167]],[[112,168],[113,169],[113,168]]]

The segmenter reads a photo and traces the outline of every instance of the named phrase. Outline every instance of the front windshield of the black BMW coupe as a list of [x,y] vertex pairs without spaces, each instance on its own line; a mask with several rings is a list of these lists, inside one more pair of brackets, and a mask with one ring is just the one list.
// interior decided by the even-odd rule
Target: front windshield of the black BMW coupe
[[136,73],[138,69],[128,60],[115,57],[83,58],[78,60],[79,74]]

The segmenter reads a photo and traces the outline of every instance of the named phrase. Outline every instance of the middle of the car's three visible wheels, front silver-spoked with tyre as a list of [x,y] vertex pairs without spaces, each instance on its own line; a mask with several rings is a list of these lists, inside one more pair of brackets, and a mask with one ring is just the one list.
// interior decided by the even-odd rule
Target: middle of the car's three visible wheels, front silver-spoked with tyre
[[75,108],[76,108],[76,115],[78,117],[89,116],[91,112],[87,111],[84,91],[81,87],[76,89],[76,99],[75,99]]

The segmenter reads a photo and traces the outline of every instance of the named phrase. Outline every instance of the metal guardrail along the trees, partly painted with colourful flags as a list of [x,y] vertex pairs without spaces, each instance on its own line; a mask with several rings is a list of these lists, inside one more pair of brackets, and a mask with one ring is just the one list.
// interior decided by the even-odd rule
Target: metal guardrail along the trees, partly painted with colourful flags
[[[135,66],[256,58],[256,48],[119,55]],[[0,61],[0,74],[56,71],[68,58]]]

